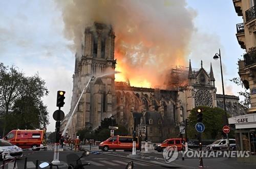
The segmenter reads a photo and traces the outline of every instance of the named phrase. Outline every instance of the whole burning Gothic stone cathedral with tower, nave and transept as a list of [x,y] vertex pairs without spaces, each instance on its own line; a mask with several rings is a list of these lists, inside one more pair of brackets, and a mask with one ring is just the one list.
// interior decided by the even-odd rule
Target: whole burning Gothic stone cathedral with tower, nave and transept
[[[76,54],[73,75],[71,112],[90,77],[114,72],[115,34],[111,25],[94,23],[84,31],[82,53]],[[118,124],[124,125],[132,135],[134,123],[147,124],[148,139],[161,142],[173,136],[174,129],[187,119],[195,106],[205,105],[223,108],[223,95],[216,94],[215,77],[211,65],[206,71],[201,61],[200,69],[176,69],[186,74],[186,85],[173,89],[152,89],[130,86],[115,81],[115,75],[97,77],[83,93],[67,133],[75,136],[79,129],[95,130],[101,120],[114,116]],[[172,73],[172,72],[170,72]],[[226,95],[226,108],[231,116],[241,110],[237,96]],[[61,122],[66,126],[71,112]]]

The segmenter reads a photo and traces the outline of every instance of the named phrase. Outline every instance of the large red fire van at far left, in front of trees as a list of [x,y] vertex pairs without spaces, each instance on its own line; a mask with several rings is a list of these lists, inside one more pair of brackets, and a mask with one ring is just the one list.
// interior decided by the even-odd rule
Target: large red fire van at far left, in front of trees
[[40,150],[44,144],[45,130],[12,130],[4,139],[23,149]]

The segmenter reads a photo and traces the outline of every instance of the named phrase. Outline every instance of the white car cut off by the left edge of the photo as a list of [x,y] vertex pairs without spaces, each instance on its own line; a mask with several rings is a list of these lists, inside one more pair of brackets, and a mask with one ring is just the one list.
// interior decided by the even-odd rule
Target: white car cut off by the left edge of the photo
[[23,156],[22,148],[0,139],[0,160],[3,158],[21,158]]

